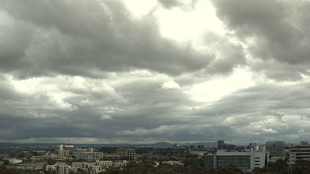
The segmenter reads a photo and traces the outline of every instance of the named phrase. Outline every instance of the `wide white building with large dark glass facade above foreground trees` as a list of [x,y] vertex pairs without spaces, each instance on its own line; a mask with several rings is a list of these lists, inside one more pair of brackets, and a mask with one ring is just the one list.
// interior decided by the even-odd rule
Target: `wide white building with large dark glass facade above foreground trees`
[[227,168],[234,165],[243,171],[252,171],[254,168],[263,168],[269,159],[268,152],[225,152],[217,150],[216,155],[205,155],[204,166],[213,169]]

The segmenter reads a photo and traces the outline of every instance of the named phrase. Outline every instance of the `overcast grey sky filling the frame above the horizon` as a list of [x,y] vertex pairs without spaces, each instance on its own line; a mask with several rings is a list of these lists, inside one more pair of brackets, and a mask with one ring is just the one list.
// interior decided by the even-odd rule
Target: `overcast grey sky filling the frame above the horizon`
[[310,139],[309,0],[0,0],[0,142]]

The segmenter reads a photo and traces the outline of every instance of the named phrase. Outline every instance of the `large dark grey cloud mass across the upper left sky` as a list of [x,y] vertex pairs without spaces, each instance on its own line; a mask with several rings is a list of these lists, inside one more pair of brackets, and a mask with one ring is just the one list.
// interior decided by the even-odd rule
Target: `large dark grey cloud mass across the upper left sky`
[[21,77],[96,77],[130,68],[179,74],[214,58],[162,38],[152,15],[130,19],[118,1],[2,1],[0,9],[10,21],[1,47],[16,48],[1,52],[1,70]]

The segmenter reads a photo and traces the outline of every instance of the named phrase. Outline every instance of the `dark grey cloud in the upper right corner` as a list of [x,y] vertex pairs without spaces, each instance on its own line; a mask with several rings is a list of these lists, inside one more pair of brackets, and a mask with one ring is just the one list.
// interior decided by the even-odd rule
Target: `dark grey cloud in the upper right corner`
[[[300,73],[309,74],[303,66],[310,64],[310,12],[306,10],[309,1],[214,0],[213,4],[229,29],[244,42],[254,42],[248,46],[254,58],[274,59],[274,64],[281,65],[277,72],[274,64],[254,69],[265,71],[270,78],[288,81],[300,80]],[[268,69],[271,66],[273,70]]]

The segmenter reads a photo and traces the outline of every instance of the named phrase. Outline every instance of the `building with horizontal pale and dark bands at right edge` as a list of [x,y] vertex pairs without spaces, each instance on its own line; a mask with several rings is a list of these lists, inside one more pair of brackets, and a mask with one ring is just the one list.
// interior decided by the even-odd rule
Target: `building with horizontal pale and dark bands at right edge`
[[295,145],[290,148],[287,163],[291,165],[296,160],[310,160],[310,145]]

